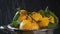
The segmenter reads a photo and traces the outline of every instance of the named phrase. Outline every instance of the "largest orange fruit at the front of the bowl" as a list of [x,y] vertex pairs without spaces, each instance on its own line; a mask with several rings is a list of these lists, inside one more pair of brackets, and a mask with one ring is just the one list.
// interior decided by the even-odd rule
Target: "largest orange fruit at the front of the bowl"
[[22,29],[22,30],[38,30],[39,29],[39,26],[35,22],[31,22],[29,20],[24,20],[20,24],[20,28],[19,29]]

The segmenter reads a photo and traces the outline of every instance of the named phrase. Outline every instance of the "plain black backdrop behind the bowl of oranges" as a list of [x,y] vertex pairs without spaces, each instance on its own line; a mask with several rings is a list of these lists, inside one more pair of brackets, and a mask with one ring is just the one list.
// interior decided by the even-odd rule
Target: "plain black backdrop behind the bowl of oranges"
[[[24,3],[23,3],[24,2]],[[38,11],[46,6],[54,12],[60,19],[60,2],[58,0],[0,0],[0,26],[10,24],[16,13],[16,8],[27,11]],[[59,23],[60,24],[60,23]],[[59,34],[60,25],[54,30],[54,34]],[[7,34],[0,30],[0,34]]]

